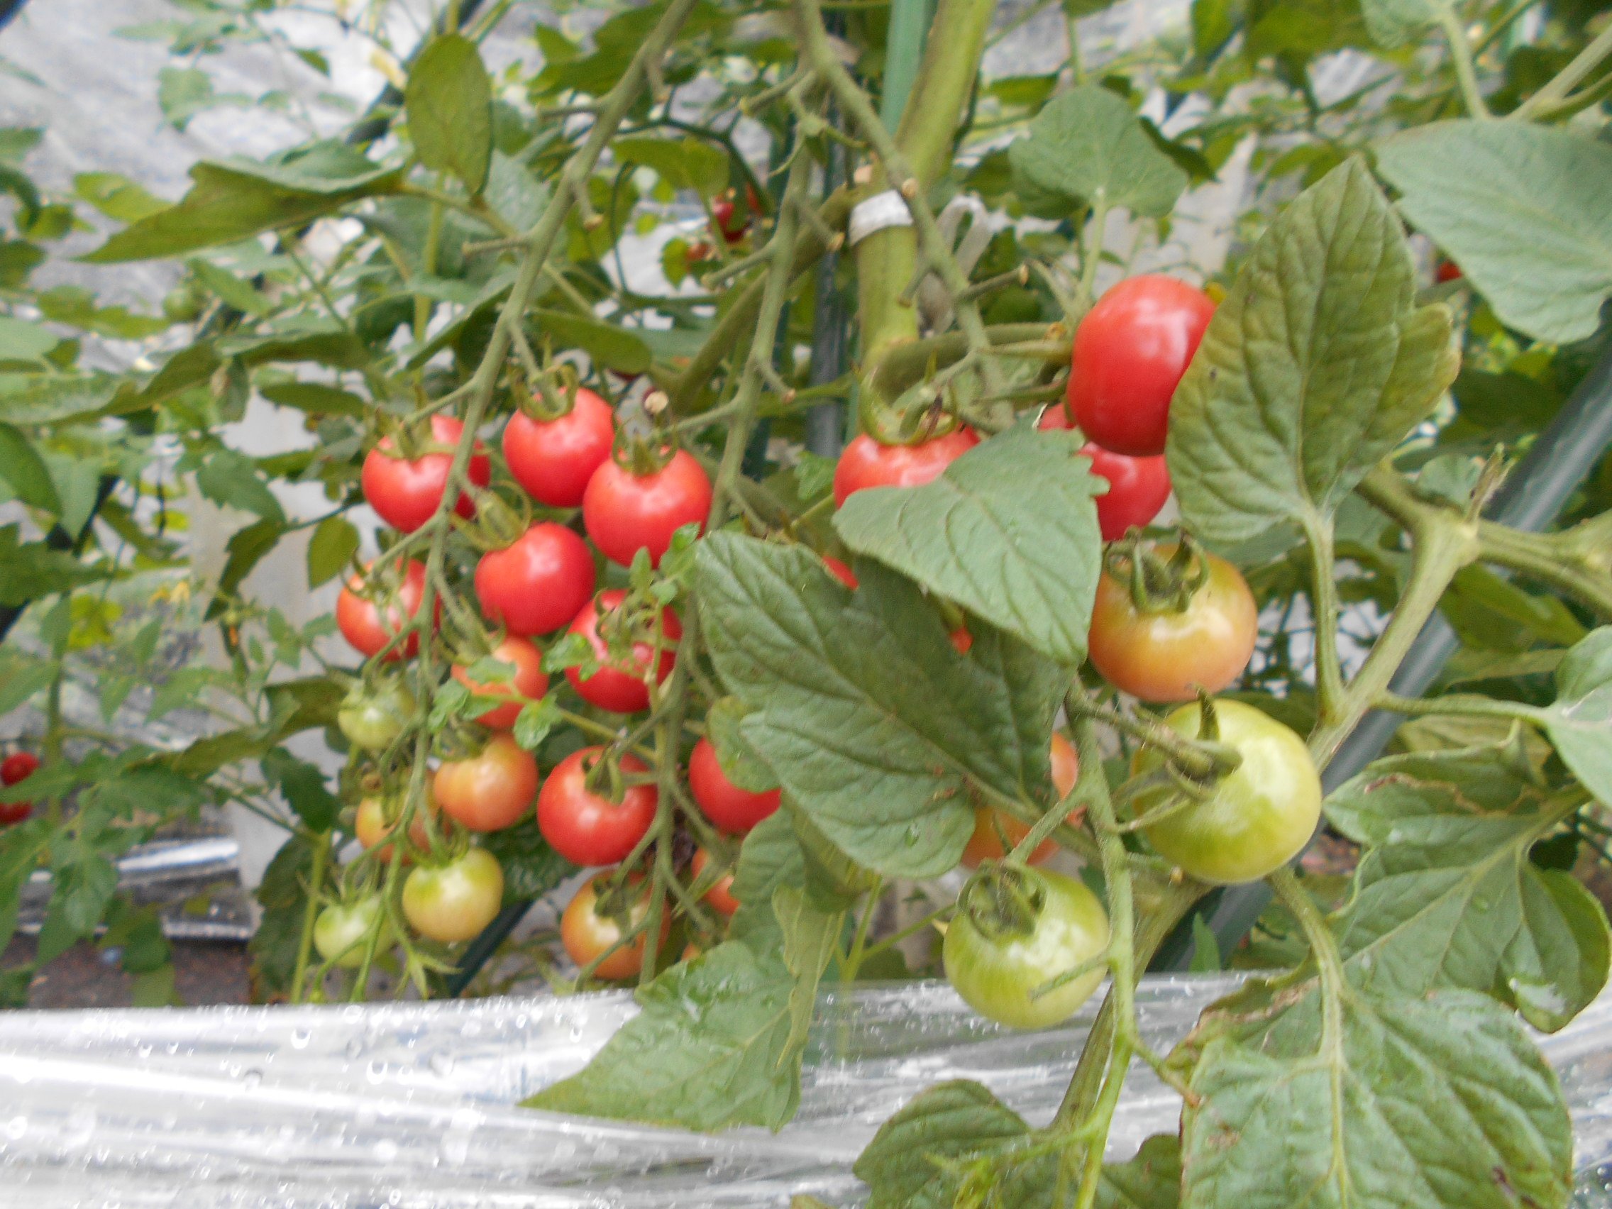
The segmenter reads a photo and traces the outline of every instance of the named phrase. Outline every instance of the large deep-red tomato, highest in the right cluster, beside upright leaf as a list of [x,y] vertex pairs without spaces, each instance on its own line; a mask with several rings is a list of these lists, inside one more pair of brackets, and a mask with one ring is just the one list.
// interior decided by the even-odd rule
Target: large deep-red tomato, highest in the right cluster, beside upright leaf
[[1203,340],[1214,300],[1161,274],[1127,277],[1075,329],[1069,411],[1104,450],[1164,453],[1170,397]]

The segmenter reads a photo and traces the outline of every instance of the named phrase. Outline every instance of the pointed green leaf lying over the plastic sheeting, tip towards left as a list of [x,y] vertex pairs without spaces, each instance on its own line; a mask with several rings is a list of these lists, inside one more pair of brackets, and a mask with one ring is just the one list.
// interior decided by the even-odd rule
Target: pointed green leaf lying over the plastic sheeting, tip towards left
[[775,949],[717,945],[642,988],[643,1011],[582,1072],[522,1103],[693,1130],[779,1128],[800,1104],[793,995]]

